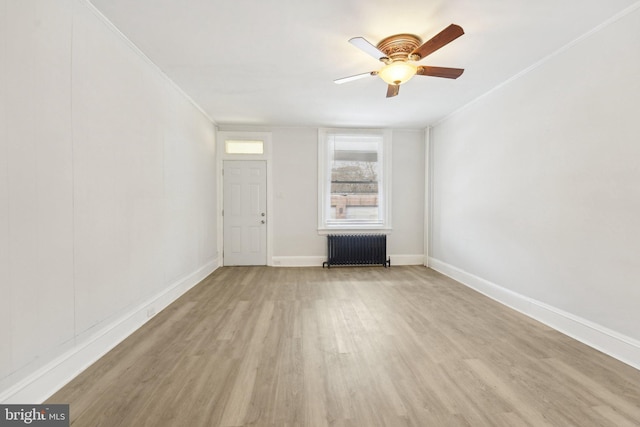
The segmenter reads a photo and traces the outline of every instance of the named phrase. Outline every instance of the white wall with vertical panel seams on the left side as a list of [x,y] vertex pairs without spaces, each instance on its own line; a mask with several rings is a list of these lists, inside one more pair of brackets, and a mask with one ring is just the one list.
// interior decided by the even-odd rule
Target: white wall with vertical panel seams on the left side
[[0,40],[0,401],[29,401],[215,268],[215,139],[84,0],[0,0]]

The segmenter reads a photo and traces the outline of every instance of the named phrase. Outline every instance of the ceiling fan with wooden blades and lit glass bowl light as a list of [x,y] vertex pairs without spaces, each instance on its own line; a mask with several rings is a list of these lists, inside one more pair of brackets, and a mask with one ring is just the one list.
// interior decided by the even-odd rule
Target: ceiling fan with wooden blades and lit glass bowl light
[[464,34],[462,27],[451,24],[438,34],[422,43],[420,37],[413,34],[396,34],[380,41],[377,46],[369,43],[364,37],[354,37],[349,43],[359,48],[363,52],[373,56],[381,62],[384,67],[378,71],[356,74],[354,76],[343,77],[334,80],[337,84],[347,83],[353,80],[369,76],[379,76],[389,86],[387,88],[387,98],[398,95],[400,85],[406,83],[416,74],[419,76],[444,77],[447,79],[457,79],[462,75],[462,68],[429,67],[416,65],[414,62],[420,61],[427,55],[432,54],[441,47],[451,43]]

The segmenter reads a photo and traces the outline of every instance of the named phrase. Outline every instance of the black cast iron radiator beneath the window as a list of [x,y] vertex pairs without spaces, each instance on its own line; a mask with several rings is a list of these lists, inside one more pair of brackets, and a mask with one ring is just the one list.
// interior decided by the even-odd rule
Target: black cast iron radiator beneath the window
[[332,265],[383,265],[391,267],[387,259],[386,234],[330,234],[327,236],[327,261]]

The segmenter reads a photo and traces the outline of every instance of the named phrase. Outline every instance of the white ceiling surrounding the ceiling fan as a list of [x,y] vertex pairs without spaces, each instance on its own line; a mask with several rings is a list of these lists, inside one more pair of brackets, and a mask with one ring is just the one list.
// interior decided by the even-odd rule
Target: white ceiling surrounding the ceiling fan
[[[218,124],[396,128],[434,123],[636,1],[91,0]],[[451,23],[465,35],[420,64],[459,79],[416,76],[389,99],[377,77],[333,83],[381,66],[351,37],[427,40]]]

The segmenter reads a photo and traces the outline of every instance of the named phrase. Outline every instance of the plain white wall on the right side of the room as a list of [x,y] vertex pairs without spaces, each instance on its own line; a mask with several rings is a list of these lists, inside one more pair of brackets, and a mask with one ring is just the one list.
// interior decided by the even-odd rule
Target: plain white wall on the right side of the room
[[436,268],[635,366],[639,40],[636,8],[452,115],[431,141]]

